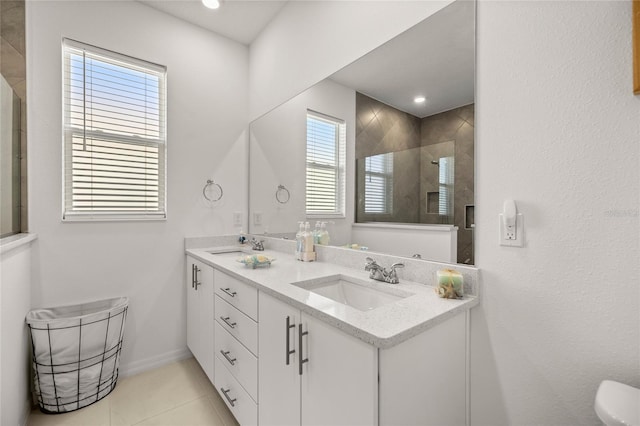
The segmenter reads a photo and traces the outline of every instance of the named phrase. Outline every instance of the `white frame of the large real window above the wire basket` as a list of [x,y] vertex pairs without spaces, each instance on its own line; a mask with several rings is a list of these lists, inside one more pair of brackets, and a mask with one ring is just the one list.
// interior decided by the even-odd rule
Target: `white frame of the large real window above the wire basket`
[[[125,54],[113,52],[107,49],[92,46],[86,43],[78,42],[72,39],[62,39],[62,221],[63,222],[95,222],[95,221],[164,221],[167,219],[167,68],[152,62],[134,58]],[[68,87],[70,87],[71,73],[67,71],[67,56],[77,54],[75,52],[82,51],[88,53],[91,57],[104,58],[106,63],[113,65],[114,63],[122,63],[123,66],[132,70],[140,71],[148,75],[158,78],[158,137],[157,138],[140,138],[133,135],[126,135],[115,132],[91,131],[86,126],[82,128],[71,125],[71,108],[67,107],[70,101],[68,95]],[[83,64],[83,70],[86,65]],[[83,87],[83,93],[86,93]],[[69,96],[69,97],[68,97]],[[107,143],[121,143],[123,147],[131,146],[151,146],[157,148],[158,155],[158,180],[157,180],[157,196],[158,208],[153,210],[74,210],[69,209],[69,204],[73,200],[68,197],[72,196],[72,184],[69,182],[73,174],[72,156],[73,156],[73,135],[82,133],[83,137],[97,136]],[[89,138],[90,140],[91,138]],[[126,149],[126,148],[125,148]],[[132,161],[131,159],[127,161]]]

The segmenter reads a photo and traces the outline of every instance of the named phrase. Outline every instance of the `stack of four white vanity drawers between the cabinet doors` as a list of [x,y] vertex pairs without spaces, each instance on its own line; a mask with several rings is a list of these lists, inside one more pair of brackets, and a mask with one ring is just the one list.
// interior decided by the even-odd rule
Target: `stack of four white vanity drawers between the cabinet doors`
[[242,426],[258,423],[258,290],[214,270],[215,381]]

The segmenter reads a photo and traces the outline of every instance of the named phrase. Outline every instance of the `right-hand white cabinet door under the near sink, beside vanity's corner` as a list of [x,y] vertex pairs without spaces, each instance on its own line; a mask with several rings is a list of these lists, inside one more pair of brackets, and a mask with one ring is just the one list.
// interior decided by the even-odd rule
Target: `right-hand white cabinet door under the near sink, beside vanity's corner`
[[304,313],[302,326],[301,424],[378,424],[378,350]]

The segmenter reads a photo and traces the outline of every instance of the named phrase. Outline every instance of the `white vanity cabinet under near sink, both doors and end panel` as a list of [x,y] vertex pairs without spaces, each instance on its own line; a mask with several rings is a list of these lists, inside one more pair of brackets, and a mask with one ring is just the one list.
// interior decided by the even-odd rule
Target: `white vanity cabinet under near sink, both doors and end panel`
[[466,315],[378,349],[260,292],[260,426],[467,424]]

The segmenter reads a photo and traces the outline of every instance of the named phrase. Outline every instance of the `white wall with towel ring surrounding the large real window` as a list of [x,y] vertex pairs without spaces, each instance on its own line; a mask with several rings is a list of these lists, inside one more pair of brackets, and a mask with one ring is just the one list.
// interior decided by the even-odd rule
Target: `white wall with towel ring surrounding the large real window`
[[[167,66],[166,221],[62,223],[62,37]],[[185,356],[184,237],[247,211],[247,47],[128,1],[28,1],[27,43],[34,306],[128,296],[122,370]]]

